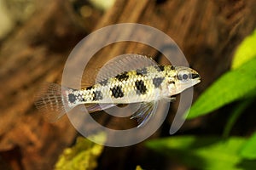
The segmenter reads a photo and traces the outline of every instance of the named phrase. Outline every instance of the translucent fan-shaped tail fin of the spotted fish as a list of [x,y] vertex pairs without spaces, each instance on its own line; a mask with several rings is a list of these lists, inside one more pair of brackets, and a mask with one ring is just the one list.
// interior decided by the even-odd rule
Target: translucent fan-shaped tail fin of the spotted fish
[[37,96],[35,105],[39,111],[44,113],[44,117],[49,122],[56,122],[67,111],[73,109],[74,106],[68,105],[67,91],[68,88],[63,88],[55,83],[46,83],[40,88],[40,93]]

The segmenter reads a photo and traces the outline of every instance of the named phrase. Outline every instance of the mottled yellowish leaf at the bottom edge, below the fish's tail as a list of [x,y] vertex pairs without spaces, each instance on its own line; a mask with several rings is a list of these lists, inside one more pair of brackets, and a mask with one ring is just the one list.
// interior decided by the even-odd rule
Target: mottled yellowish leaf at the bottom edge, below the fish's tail
[[[99,135],[103,134],[98,134]],[[102,136],[104,138],[104,136]],[[63,151],[55,164],[55,170],[84,170],[95,169],[97,157],[101,155],[103,146],[88,139],[78,137],[72,148]]]

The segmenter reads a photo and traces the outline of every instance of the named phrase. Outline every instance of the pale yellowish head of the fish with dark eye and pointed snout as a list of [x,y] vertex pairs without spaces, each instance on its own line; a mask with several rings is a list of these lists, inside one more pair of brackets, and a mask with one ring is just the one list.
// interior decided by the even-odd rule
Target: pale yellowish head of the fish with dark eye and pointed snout
[[172,95],[180,94],[199,82],[201,82],[201,77],[197,71],[185,66],[175,66],[174,80],[172,79],[168,88]]

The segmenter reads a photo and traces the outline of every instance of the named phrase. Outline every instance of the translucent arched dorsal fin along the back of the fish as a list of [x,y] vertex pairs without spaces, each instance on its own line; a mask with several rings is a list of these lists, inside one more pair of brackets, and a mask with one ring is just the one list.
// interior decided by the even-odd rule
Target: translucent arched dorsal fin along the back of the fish
[[150,65],[158,65],[153,59],[140,54],[122,54],[102,66],[96,77],[101,82],[109,77],[115,77],[125,71],[142,69]]

